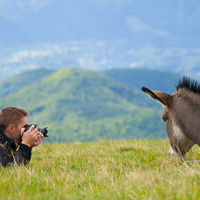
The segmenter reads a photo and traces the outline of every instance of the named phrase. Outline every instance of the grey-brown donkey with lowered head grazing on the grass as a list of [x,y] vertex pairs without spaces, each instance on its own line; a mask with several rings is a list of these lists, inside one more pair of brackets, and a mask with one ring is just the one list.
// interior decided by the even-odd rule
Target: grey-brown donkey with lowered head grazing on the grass
[[170,141],[169,157],[185,157],[194,144],[200,146],[200,85],[179,79],[173,94],[141,89],[164,106],[162,120]]

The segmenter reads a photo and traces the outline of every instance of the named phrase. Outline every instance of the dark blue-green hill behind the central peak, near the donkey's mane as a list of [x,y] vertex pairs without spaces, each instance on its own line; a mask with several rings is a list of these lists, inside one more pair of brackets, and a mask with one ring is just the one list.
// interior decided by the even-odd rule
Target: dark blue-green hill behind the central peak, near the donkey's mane
[[111,69],[103,72],[115,80],[140,89],[145,86],[155,91],[174,93],[180,74],[147,69]]

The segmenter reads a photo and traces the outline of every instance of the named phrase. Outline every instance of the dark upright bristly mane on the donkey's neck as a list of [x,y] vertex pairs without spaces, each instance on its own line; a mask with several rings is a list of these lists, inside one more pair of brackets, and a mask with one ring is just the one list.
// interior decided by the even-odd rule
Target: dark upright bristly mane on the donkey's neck
[[175,85],[175,87],[177,90],[179,88],[186,88],[191,92],[200,94],[200,84],[196,80],[192,80],[186,76],[183,76],[182,79],[179,79],[178,84]]

